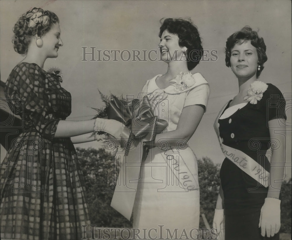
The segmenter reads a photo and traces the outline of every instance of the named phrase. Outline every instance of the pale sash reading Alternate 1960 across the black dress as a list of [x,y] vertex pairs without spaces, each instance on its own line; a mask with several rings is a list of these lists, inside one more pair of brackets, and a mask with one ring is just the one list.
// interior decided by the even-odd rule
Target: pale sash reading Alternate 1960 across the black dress
[[222,143],[222,140],[219,134],[218,120],[220,116],[222,115],[224,109],[226,108],[227,104],[228,102],[220,110],[214,123],[214,129],[217,134],[221,150],[223,154],[225,155],[225,157],[228,158],[237,167],[239,167],[242,171],[244,171],[246,174],[251,176],[253,179],[258,181],[263,186],[268,187],[269,178],[270,178],[270,173],[268,171],[266,171],[260,164],[258,164],[255,160],[253,160],[250,156],[248,156],[244,152],[238,149],[234,149],[232,147],[226,146],[225,144]]

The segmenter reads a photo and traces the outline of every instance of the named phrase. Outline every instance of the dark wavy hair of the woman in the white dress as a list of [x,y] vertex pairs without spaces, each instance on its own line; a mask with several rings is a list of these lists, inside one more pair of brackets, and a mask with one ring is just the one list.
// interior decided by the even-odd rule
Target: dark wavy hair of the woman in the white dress
[[188,70],[194,69],[199,64],[203,55],[202,42],[197,27],[190,18],[166,18],[163,23],[162,20],[163,18],[160,20],[159,37],[161,37],[165,30],[178,35],[178,45],[187,48],[187,68]]

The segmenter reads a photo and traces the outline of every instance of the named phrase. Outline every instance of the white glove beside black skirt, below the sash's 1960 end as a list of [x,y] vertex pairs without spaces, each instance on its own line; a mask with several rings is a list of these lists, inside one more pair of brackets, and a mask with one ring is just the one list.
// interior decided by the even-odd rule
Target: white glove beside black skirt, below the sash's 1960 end
[[274,236],[279,232],[281,227],[281,210],[280,210],[281,200],[278,198],[265,198],[265,203],[260,210],[260,222],[258,227],[261,228],[262,236],[265,236],[267,232],[267,237]]

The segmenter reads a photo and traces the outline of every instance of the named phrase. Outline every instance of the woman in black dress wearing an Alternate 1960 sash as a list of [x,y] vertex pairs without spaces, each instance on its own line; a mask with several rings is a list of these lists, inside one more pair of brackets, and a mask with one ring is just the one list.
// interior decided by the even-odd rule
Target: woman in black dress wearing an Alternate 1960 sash
[[226,240],[279,239],[285,99],[273,84],[257,80],[267,61],[264,40],[257,32],[248,26],[235,32],[225,50],[239,93],[225,104],[214,124],[226,158],[213,227],[222,237],[225,217]]

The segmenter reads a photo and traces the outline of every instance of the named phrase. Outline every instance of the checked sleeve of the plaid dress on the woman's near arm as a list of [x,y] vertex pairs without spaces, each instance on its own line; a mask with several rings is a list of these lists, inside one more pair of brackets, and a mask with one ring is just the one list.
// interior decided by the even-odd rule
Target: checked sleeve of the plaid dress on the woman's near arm
[[17,65],[8,77],[5,91],[14,105],[17,102],[22,103],[23,113],[20,112],[20,115],[23,114],[27,120],[28,116],[41,136],[53,140],[59,120],[54,119],[50,113],[51,103],[45,92],[46,75],[39,70],[39,67],[33,64]]

